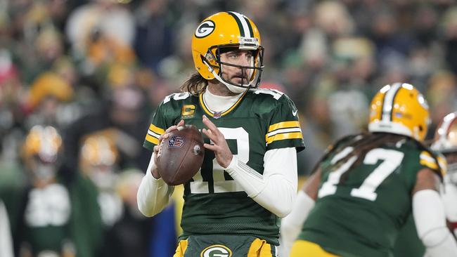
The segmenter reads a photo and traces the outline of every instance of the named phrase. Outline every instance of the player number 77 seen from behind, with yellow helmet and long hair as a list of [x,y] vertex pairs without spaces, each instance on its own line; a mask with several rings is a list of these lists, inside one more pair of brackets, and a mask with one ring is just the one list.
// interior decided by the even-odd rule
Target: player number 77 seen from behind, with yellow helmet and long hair
[[412,85],[383,87],[371,102],[369,132],[330,147],[283,219],[290,256],[392,256],[411,213],[429,256],[457,256],[439,196],[444,164],[422,143],[428,120]]

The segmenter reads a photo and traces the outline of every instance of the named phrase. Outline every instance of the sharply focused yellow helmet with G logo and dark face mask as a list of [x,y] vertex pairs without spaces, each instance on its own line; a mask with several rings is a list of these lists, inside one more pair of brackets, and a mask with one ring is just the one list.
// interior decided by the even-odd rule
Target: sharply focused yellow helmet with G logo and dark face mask
[[[252,66],[233,65],[221,62],[219,53],[223,48],[252,50]],[[198,25],[192,39],[192,56],[195,69],[207,80],[217,79],[226,86],[257,88],[263,69],[264,48],[260,44],[257,26],[245,15],[236,12],[221,12],[211,15]],[[249,84],[233,84],[223,79],[222,65],[252,70]]]

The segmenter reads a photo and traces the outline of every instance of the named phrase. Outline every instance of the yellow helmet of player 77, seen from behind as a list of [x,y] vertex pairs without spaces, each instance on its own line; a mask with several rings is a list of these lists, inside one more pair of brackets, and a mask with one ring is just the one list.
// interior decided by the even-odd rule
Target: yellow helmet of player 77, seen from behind
[[411,84],[384,86],[371,101],[368,131],[411,136],[422,142],[429,124],[427,101]]

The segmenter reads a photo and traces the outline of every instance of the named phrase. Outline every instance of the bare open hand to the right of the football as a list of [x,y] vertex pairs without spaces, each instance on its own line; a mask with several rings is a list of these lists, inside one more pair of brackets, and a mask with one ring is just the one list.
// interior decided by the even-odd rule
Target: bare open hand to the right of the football
[[205,115],[203,115],[203,124],[207,126],[208,129],[202,129],[202,132],[211,139],[212,145],[205,143],[203,146],[212,150],[216,155],[217,163],[222,166],[222,168],[228,167],[232,161],[233,154],[228,148],[227,141],[224,138],[224,135],[217,129],[217,126],[210,121]]

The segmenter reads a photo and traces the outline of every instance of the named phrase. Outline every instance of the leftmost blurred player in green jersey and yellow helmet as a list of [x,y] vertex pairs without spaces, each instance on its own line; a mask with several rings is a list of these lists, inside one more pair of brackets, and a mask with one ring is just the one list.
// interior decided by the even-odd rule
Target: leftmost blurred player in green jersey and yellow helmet
[[70,190],[58,177],[62,148],[57,129],[40,125],[30,129],[22,145],[30,183],[15,225],[16,256],[75,256]]

